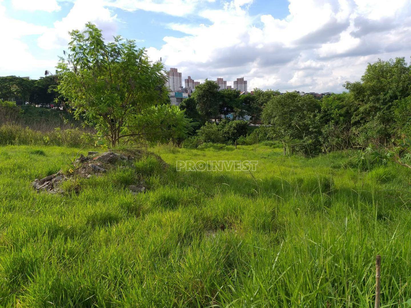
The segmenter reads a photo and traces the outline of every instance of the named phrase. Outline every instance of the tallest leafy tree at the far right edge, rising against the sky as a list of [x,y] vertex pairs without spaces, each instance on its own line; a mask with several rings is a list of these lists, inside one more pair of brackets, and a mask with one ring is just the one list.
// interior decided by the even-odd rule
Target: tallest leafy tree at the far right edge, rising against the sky
[[394,132],[395,100],[411,95],[411,67],[404,58],[368,64],[359,82],[346,82],[358,106],[352,123],[360,144],[387,143]]

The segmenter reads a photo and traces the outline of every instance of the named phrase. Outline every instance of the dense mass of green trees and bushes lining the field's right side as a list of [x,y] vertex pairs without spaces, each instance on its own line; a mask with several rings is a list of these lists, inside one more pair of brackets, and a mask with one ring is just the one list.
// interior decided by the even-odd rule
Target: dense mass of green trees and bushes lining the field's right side
[[264,106],[272,137],[305,155],[371,145],[390,147],[410,132],[411,66],[404,58],[369,64],[349,90],[322,100],[286,93]]

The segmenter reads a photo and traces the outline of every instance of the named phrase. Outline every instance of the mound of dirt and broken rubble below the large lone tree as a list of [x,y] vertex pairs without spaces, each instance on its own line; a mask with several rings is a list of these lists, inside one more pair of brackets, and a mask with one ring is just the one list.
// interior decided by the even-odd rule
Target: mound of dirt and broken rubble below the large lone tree
[[[166,166],[166,163],[158,155],[143,153],[142,151],[129,150],[125,153],[115,153],[113,151],[99,153],[89,151],[87,156],[81,154],[80,157],[75,160],[73,163],[74,168],[71,168],[68,173],[60,170],[58,173],[46,176],[45,178],[35,179],[32,186],[37,192],[44,191],[51,194],[62,193],[64,191],[60,188],[60,184],[64,181],[74,180],[75,177],[90,178],[91,176],[100,176],[108,170],[116,168],[118,164],[127,164],[127,162],[141,158],[144,154],[155,156],[164,167]],[[142,181],[136,183],[136,185],[130,185],[129,190],[132,194],[138,194],[145,192],[146,187]]]

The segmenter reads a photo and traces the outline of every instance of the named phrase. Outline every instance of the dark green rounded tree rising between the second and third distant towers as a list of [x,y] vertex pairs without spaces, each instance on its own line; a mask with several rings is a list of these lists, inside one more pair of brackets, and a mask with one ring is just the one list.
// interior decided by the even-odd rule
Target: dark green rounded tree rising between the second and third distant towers
[[204,115],[205,118],[217,121],[217,114],[219,114],[220,94],[219,86],[212,80],[205,80],[202,84],[196,87],[192,97],[196,101],[197,110]]

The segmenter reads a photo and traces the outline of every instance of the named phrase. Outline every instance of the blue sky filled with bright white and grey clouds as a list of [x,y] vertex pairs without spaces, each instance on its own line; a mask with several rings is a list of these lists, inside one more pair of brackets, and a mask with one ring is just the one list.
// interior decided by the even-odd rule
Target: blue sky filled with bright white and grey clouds
[[183,78],[343,91],[378,58],[411,56],[410,0],[0,0],[0,76],[53,71],[88,21]]

